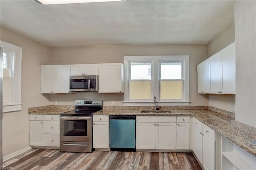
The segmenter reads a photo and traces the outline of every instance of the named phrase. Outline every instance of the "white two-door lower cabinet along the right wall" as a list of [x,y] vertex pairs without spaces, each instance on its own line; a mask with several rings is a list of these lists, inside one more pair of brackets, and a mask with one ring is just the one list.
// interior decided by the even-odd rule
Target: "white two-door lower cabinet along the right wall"
[[193,151],[205,170],[215,169],[215,131],[193,117]]

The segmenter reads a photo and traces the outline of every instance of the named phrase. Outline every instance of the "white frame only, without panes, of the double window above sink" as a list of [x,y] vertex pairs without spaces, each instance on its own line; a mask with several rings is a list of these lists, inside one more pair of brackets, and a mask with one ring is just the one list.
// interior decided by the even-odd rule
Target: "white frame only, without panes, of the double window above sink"
[[[132,100],[130,99],[129,79],[130,62],[152,62],[152,94],[151,99]],[[182,62],[183,78],[183,99],[160,99],[160,64],[165,61]],[[189,56],[188,55],[164,55],[164,56],[124,56],[124,106],[152,106],[156,96],[159,106],[188,106],[189,105]]]

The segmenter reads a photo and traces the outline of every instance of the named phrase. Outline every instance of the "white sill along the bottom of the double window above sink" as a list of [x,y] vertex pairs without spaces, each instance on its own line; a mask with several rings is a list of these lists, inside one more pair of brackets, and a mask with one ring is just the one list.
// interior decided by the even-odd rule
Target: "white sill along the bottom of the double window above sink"
[[[179,101],[179,102],[157,102],[157,106],[188,106],[190,101]],[[124,106],[154,106],[152,102],[133,102],[123,101]]]

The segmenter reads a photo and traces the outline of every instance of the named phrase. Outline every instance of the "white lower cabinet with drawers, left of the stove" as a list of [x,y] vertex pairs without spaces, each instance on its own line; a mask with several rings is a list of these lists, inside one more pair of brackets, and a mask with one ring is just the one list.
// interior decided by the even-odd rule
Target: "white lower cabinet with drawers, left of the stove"
[[60,116],[29,115],[30,146],[60,147]]

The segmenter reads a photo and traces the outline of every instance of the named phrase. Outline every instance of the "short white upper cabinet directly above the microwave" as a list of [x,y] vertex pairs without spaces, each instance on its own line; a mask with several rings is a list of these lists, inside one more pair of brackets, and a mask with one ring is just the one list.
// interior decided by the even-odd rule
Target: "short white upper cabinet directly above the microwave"
[[98,75],[98,64],[72,64],[70,75]]

